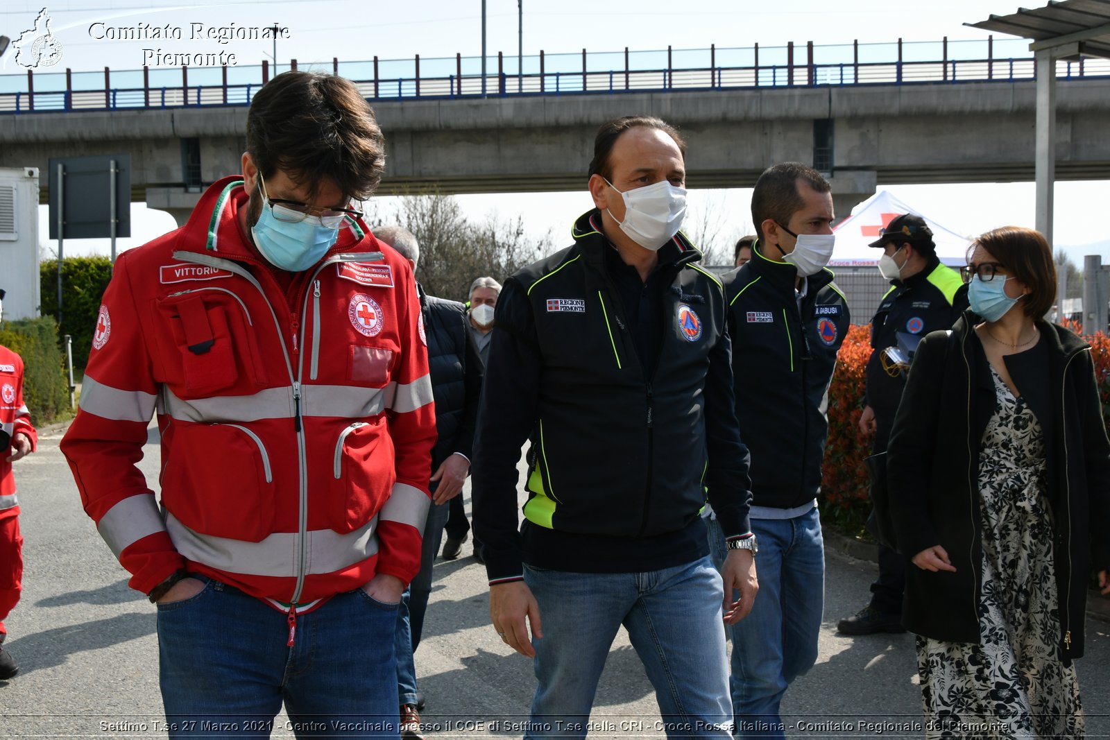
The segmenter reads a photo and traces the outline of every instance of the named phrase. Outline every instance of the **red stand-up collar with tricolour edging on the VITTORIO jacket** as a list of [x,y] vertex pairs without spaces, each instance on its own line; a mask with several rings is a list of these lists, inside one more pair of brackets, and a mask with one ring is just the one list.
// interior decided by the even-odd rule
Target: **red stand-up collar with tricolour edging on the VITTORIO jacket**
[[[198,252],[270,266],[258,247],[243,231],[240,209],[248,207],[250,197],[243,189],[243,178],[232,175],[218,180],[201,195],[201,200],[189,216],[189,224],[182,231],[175,250]],[[370,241],[366,237],[370,236]],[[340,236],[327,251],[326,256],[341,252],[381,251],[374,244],[366,224],[361,220],[349,221],[340,230]]]

